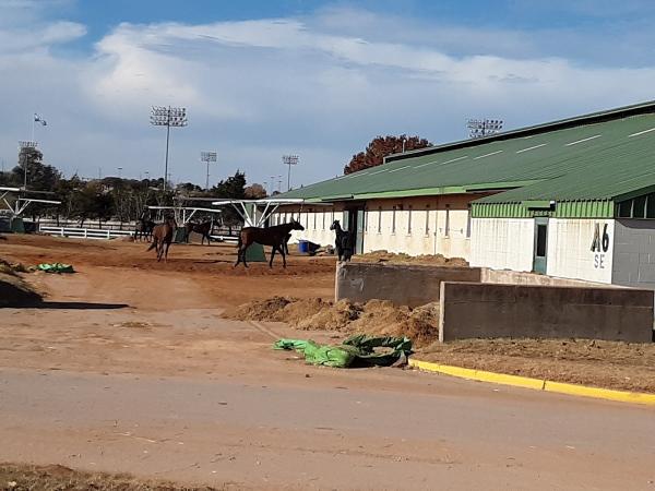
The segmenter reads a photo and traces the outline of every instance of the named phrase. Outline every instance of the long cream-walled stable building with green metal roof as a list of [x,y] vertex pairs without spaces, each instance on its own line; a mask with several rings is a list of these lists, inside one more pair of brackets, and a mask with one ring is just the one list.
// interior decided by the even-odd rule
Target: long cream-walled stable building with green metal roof
[[282,195],[273,224],[356,252],[461,256],[474,266],[655,288],[655,101],[391,155]]

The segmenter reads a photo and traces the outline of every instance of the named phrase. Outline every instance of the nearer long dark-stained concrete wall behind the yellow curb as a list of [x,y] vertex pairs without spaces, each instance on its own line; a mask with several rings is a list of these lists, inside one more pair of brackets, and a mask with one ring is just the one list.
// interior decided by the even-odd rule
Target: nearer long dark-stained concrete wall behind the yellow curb
[[651,343],[653,291],[441,283],[439,338],[591,338]]

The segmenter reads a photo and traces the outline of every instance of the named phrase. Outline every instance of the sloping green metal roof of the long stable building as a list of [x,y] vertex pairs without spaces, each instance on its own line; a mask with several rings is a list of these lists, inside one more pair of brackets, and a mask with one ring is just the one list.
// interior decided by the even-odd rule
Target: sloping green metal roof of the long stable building
[[479,203],[621,199],[655,189],[655,101],[396,154],[281,197],[315,201],[511,191]]

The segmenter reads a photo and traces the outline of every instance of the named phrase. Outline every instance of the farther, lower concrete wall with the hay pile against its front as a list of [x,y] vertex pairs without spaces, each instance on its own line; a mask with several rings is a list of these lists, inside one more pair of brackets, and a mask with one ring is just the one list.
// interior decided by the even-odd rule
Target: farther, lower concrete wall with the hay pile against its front
[[417,307],[439,301],[441,282],[479,282],[480,274],[477,267],[340,263],[335,298],[357,302],[381,299]]

